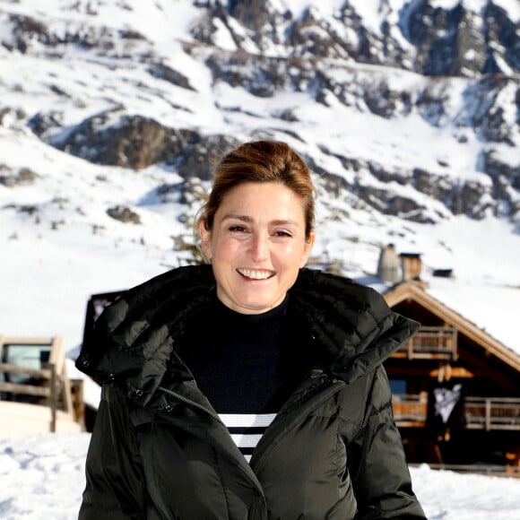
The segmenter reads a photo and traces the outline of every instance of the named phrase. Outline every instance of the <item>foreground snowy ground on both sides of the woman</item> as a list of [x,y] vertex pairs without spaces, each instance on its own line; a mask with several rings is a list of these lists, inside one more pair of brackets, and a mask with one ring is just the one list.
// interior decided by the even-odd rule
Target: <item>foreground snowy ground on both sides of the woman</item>
[[[73,520],[90,434],[0,439],[0,517]],[[520,479],[410,468],[429,520],[520,520]]]

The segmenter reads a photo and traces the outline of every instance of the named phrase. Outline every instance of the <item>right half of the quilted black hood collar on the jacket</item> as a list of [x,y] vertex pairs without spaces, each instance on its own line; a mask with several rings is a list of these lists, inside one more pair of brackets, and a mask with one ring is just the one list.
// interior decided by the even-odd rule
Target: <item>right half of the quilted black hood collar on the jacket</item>
[[325,349],[327,371],[347,383],[386,360],[420,327],[392,311],[376,290],[342,276],[303,269],[290,293]]

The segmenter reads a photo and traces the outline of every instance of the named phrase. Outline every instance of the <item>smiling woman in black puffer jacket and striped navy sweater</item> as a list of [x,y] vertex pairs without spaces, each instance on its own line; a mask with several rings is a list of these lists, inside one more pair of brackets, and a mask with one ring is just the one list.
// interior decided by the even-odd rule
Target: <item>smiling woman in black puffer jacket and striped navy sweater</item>
[[418,325],[303,269],[306,164],[246,143],[199,219],[205,266],[107,308],[76,364],[102,397],[80,519],[424,518],[381,363]]

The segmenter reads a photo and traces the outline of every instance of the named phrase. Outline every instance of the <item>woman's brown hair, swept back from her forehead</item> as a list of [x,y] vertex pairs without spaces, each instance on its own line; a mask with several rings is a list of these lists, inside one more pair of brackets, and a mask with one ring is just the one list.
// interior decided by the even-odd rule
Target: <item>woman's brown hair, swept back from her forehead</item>
[[279,182],[301,199],[305,212],[305,236],[314,230],[314,186],[307,164],[289,144],[278,141],[252,141],[225,155],[213,174],[212,192],[199,212],[211,230],[215,213],[228,192],[245,182]]

